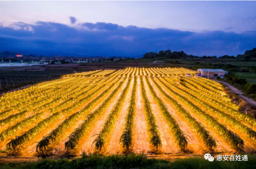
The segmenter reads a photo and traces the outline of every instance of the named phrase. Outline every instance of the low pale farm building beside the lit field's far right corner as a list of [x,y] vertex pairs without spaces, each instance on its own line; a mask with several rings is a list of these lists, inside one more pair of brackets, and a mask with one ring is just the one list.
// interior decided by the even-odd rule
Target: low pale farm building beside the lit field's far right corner
[[227,71],[222,69],[197,69],[197,73],[201,77],[215,78],[217,76],[223,77],[224,74],[228,74]]

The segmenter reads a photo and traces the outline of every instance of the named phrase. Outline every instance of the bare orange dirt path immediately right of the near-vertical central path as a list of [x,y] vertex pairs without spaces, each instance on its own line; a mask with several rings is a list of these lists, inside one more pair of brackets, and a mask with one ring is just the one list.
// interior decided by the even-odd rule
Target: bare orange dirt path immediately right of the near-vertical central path
[[157,125],[159,126],[159,132],[160,132],[161,140],[163,143],[162,149],[165,154],[179,154],[179,147],[175,143],[175,138],[169,126],[167,125],[165,119],[163,119],[163,115],[161,114],[161,111],[157,103],[154,101],[152,95],[150,94],[150,91],[148,89],[147,83],[144,78],[143,78],[143,81],[145,84],[144,87],[147,93],[148,100],[151,103],[153,113],[157,120]]

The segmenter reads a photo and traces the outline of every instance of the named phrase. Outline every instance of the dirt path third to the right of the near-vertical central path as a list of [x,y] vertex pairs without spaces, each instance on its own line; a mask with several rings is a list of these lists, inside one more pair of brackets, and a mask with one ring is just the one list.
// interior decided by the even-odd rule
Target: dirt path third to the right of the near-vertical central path
[[[157,80],[158,82],[158,80]],[[164,82],[164,81],[163,81]],[[167,93],[169,93],[169,91],[161,84],[159,83],[160,86],[163,88],[163,90]],[[168,84],[167,84],[168,85]],[[170,93],[169,93],[170,96],[172,96]],[[173,97],[173,99],[175,99]],[[176,99],[175,99],[176,100]],[[190,110],[190,108],[188,106],[186,106],[185,104],[179,102],[180,105],[182,105],[182,107],[184,107],[186,110]],[[201,120],[201,117],[196,115],[195,113],[191,112],[191,111],[188,111],[190,113],[191,116],[195,117],[196,120],[198,122],[201,122],[202,125],[204,126],[207,126],[206,129],[209,130],[209,131],[214,131],[214,129],[212,127],[210,127],[209,125],[207,125],[207,122],[205,122],[204,120]],[[219,137],[216,132],[210,132],[211,135],[214,137],[214,139],[216,140],[216,144],[217,144],[217,149],[216,149],[216,152],[220,152],[220,153],[230,153],[230,152],[235,152],[234,149],[230,148],[230,146],[228,145],[227,142],[224,142],[223,141],[223,138]]]

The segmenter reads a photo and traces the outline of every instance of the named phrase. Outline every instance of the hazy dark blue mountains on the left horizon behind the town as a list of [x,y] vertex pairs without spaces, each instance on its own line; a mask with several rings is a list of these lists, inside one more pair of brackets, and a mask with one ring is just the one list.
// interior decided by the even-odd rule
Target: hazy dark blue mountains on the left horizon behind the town
[[[48,53],[48,54],[33,54],[31,52],[9,52],[9,51],[3,51],[2,53],[0,53],[0,56],[6,57],[6,56],[16,56],[18,54],[22,54],[23,56],[55,56],[55,55],[61,55],[61,56],[74,56],[74,57],[102,57],[102,56],[87,56],[87,55],[81,55],[81,54],[76,54],[76,53],[58,53],[58,54],[54,54],[54,53]],[[106,57],[112,57],[112,56],[106,56]],[[128,56],[116,56],[116,57],[128,57]],[[140,58],[143,57],[143,54],[141,55],[137,55],[137,56],[131,56],[129,58]]]

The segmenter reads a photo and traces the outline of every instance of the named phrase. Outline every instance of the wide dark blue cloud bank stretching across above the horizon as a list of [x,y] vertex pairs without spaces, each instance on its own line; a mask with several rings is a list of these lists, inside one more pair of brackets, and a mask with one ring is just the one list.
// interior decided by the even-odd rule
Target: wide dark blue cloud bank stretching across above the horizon
[[198,56],[237,55],[256,47],[256,32],[195,33],[173,29],[82,23],[14,23],[0,27],[0,50],[33,53],[77,53],[87,56],[136,56],[170,49]]

